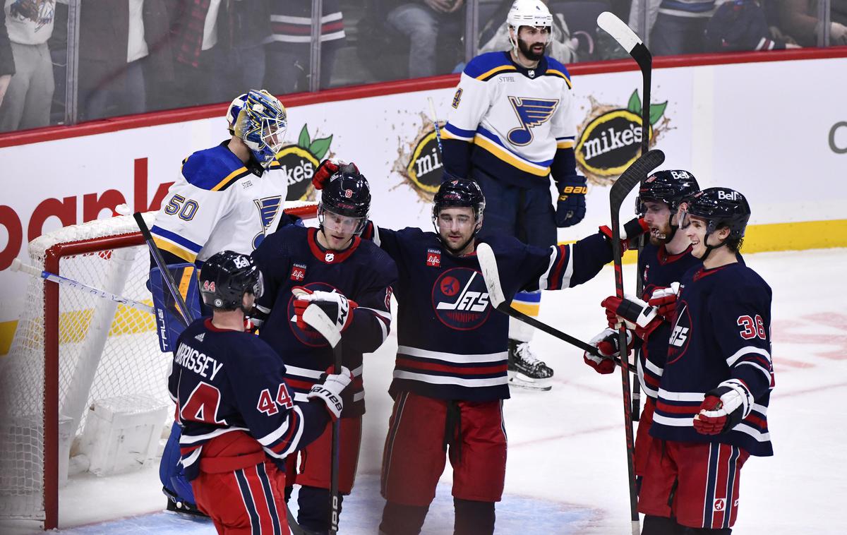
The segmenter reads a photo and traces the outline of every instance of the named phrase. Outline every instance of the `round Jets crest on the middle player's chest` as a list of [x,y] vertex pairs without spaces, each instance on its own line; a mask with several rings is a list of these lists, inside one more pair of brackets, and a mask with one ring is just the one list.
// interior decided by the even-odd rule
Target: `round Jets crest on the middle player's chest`
[[432,306],[435,316],[449,328],[479,328],[491,312],[482,274],[469,267],[448,269],[433,284]]

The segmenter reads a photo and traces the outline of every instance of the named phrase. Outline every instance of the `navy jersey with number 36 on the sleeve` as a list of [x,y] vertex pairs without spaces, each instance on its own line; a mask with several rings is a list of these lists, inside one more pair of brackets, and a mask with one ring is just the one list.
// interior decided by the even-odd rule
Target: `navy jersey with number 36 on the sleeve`
[[[767,405],[773,388],[770,286],[742,261],[685,273],[671,328],[650,435],[682,442],[721,442],[750,455],[773,455]],[[704,394],[735,379],[755,400],[727,433],[694,428]]]

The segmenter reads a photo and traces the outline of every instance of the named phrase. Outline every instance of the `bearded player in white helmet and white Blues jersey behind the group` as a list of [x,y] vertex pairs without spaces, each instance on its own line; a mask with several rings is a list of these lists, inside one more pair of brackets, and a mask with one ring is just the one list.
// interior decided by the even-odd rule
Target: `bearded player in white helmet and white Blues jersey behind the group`
[[[462,72],[444,129],[445,177],[476,180],[488,202],[480,235],[556,244],[556,227],[585,215],[585,177],[573,152],[576,119],[570,74],[545,56],[553,17],[541,0],[515,0],[507,15],[511,50],[473,58]],[[554,210],[550,176],[556,182]],[[540,292],[521,292],[512,306],[538,316]],[[509,375],[534,388],[553,370],[529,348],[533,328],[512,320]]]

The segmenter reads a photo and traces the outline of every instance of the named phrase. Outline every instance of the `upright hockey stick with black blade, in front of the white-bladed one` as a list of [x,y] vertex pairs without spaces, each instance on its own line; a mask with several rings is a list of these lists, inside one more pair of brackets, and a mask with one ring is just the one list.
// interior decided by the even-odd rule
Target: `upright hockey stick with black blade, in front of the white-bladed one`
[[[615,295],[623,298],[623,251],[621,249],[621,204],[629,192],[662,165],[665,154],[654,150],[646,152],[630,165],[612,185],[609,191],[609,207],[612,211],[612,256],[615,261]],[[621,325],[617,331],[618,347],[627,347],[627,328]],[[623,352],[622,352],[623,355]],[[629,509],[632,516],[633,535],[641,531],[638,516],[638,494],[635,490],[635,444],[633,438],[632,401],[629,398],[629,358],[621,359],[621,385],[623,388],[623,420],[627,436],[627,467],[629,471]]]

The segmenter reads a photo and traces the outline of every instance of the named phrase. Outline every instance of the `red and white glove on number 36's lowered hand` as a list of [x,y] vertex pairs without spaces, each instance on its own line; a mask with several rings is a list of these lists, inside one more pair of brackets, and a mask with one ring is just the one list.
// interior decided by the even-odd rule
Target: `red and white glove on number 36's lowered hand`
[[752,410],[753,394],[745,383],[729,379],[706,392],[700,403],[700,413],[694,417],[697,433],[726,433],[744,420]]

